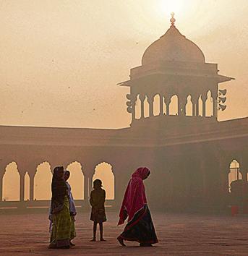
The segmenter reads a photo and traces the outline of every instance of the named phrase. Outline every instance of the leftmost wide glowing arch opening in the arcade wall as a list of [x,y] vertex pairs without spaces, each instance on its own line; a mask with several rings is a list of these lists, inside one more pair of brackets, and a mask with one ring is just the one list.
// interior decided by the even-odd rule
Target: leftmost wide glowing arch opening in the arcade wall
[[3,201],[20,201],[20,173],[17,163],[9,163],[3,176]]

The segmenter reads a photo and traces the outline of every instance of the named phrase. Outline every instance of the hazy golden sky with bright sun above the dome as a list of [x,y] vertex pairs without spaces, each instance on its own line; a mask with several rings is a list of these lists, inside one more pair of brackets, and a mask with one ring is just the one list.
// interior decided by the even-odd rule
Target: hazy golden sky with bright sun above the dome
[[127,127],[129,69],[176,27],[236,77],[220,119],[248,116],[247,0],[1,0],[0,124]]

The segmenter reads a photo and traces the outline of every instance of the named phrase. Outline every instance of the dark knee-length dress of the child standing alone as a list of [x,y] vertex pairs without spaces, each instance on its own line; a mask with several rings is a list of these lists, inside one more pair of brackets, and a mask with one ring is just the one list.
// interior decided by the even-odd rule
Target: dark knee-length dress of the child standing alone
[[92,207],[90,221],[102,223],[107,220],[104,207],[105,197],[104,189],[94,189],[90,193],[90,205]]

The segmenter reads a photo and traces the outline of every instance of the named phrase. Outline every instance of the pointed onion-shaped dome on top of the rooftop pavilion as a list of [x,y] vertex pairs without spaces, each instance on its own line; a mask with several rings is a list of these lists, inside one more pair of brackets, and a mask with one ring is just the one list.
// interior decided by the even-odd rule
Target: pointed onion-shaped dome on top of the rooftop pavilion
[[205,56],[191,40],[181,35],[174,23],[142,56],[142,65],[158,61],[185,61],[205,63]]

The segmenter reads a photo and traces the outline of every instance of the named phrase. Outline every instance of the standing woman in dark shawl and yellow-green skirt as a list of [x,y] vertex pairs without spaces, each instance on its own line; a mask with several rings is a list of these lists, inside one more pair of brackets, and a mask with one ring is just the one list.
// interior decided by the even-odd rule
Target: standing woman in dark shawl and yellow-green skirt
[[51,183],[51,218],[52,231],[49,248],[69,249],[71,238],[71,216],[69,213],[69,198],[67,184],[64,181],[64,167],[54,168]]

